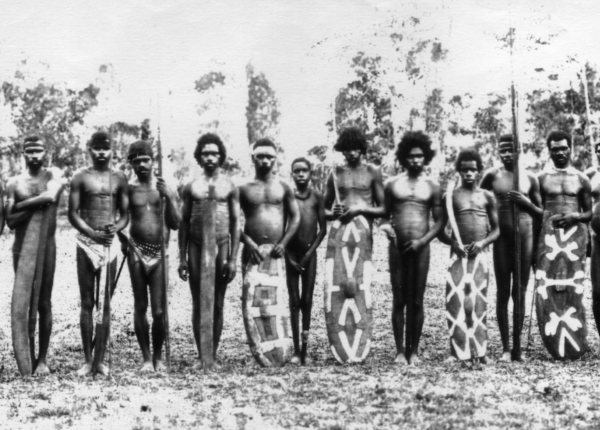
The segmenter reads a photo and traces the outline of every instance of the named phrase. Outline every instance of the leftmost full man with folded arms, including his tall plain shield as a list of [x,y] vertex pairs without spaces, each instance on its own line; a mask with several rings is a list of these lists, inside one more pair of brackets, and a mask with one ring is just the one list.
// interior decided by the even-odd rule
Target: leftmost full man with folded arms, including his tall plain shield
[[[52,333],[52,287],[54,285],[54,269],[56,266],[56,214],[63,190],[60,171],[44,167],[46,149],[38,136],[29,136],[23,145],[23,155],[27,171],[13,177],[8,182],[8,200],[6,214],[8,226],[15,230],[13,245],[13,265],[15,270],[15,286],[13,291],[13,345],[19,370],[34,375],[50,373],[46,362],[46,354]],[[43,218],[46,218],[45,220]],[[4,220],[2,220],[2,227]],[[25,243],[27,242],[27,243]],[[40,253],[40,255],[37,255]],[[24,258],[21,259],[21,254]],[[37,257],[37,258],[36,258]],[[32,265],[33,264],[33,265]],[[38,267],[41,265],[41,267]],[[40,276],[39,290],[33,286],[36,275]],[[29,309],[17,309],[17,300]],[[38,297],[36,299],[36,296]],[[37,301],[37,309],[30,308]],[[39,312],[39,354],[35,358],[35,319]],[[29,321],[29,324],[27,324]],[[15,333],[15,328],[21,331]],[[27,333],[28,331],[28,333]],[[17,337],[29,339],[29,350],[18,349]],[[22,363],[25,363],[23,367]]]

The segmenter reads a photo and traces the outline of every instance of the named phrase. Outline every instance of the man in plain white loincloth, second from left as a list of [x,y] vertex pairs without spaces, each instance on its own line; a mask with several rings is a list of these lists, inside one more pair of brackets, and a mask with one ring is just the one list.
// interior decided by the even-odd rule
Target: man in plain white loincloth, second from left
[[[75,173],[69,196],[69,221],[79,231],[77,278],[81,295],[80,324],[85,363],[76,372],[78,376],[85,376],[92,371],[94,290],[105,264],[105,247],[110,247],[110,276],[114,280],[120,247],[119,241],[113,239],[129,221],[127,178],[123,172],[113,171],[110,167],[111,137],[104,131],[94,133],[88,142],[88,150],[92,166]],[[115,222],[117,214],[118,220]],[[109,369],[103,357],[100,357],[100,362],[99,373],[107,375]]]

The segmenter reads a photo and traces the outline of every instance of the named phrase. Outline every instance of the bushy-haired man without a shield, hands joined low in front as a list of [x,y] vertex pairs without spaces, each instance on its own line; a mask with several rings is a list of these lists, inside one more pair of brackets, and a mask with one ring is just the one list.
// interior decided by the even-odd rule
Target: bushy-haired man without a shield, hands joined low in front
[[[404,134],[396,157],[405,172],[385,183],[385,212],[391,217],[400,266],[400,285],[392,285],[392,326],[396,341],[396,363],[418,364],[423,331],[423,297],[429,273],[429,243],[443,228],[440,185],[423,169],[433,159],[431,140],[423,132]],[[433,224],[429,223],[429,214]],[[406,348],[404,308],[406,307]]]

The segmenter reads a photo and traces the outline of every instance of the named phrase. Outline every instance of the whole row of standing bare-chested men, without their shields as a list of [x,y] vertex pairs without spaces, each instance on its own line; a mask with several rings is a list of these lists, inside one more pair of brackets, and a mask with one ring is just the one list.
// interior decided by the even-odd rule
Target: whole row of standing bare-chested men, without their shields
[[[521,322],[525,314],[524,296],[530,267],[534,263],[536,221],[543,215],[544,206],[553,204],[555,225],[568,228],[575,223],[587,223],[592,219],[590,180],[570,166],[570,136],[563,132],[549,135],[547,145],[554,169],[538,177],[531,173],[523,176],[519,191],[514,191],[512,137],[503,136],[499,143],[502,168],[487,171],[479,186],[479,174],[483,169],[481,157],[474,150],[462,151],[456,161],[461,184],[452,194],[461,240],[448,236],[444,230],[449,214],[442,204],[440,185],[425,174],[425,166],[434,156],[432,143],[422,132],[407,132],[401,139],[396,157],[404,168],[403,173],[389,178],[385,184],[381,172],[366,163],[367,140],[354,127],[343,130],[334,146],[343,153],[345,164],[337,166],[329,176],[325,194],[309,187],[312,166],[306,158],[292,163],[295,189],[274,173],[277,147],[269,139],[260,139],[252,147],[255,176],[249,182],[236,187],[220,171],[227,157],[221,139],[205,134],[197,141],[194,157],[203,174],[185,186],[180,210],[175,190],[154,173],[152,146],[138,141],[129,147],[128,159],[135,175],[127,180],[121,171],[111,169],[111,137],[97,132],[88,142],[92,165],[79,170],[70,184],[69,220],[78,230],[77,273],[81,295],[81,337],[85,362],[77,371],[80,376],[92,370],[93,308],[98,299],[95,285],[105,265],[106,247],[111,247],[110,276],[116,275],[116,256],[121,239],[122,251],[126,253],[134,292],[135,332],[142,350],[143,371],[164,369],[162,349],[165,340],[164,311],[166,289],[161,259],[161,228],[163,215],[160,211],[164,199],[164,225],[168,231],[179,229],[179,268],[183,280],[189,280],[193,299],[193,331],[200,352],[200,243],[203,235],[203,201],[217,200],[214,348],[219,344],[223,328],[224,297],[228,283],[236,275],[236,257],[239,243],[244,244],[242,267],[248,262],[261,259],[259,247],[273,244],[272,256],[285,258],[288,291],[291,308],[291,326],[295,363],[306,363],[310,331],[312,295],[316,277],[316,249],[324,239],[327,220],[340,219],[347,223],[357,216],[372,222],[375,218],[389,220],[383,229],[397,250],[398,261],[390,261],[394,303],[392,325],[396,342],[396,362],[417,364],[419,340],[423,328],[423,296],[429,270],[430,242],[438,237],[451,245],[458,256],[474,256],[496,241],[494,266],[498,283],[497,316],[503,344],[503,361],[511,360],[509,345],[508,302],[511,296],[511,276],[514,262],[506,258],[514,252],[513,204],[520,212],[521,235]],[[45,146],[37,136],[24,142],[24,158],[27,171],[12,178],[8,184],[6,221],[15,230],[13,258],[15,272],[19,273],[20,256],[27,248],[28,229],[35,221],[34,214],[48,207],[56,207],[64,184],[60,174],[44,167]],[[590,176],[596,178],[596,172]],[[600,192],[597,187],[596,194]],[[214,193],[214,194],[213,194]],[[211,194],[209,196],[209,194]],[[560,206],[560,207],[558,207]],[[245,225],[240,229],[240,208],[244,212]],[[430,218],[433,222],[430,222]],[[130,228],[125,234],[125,228]],[[384,221],[385,224],[385,221]],[[537,224],[539,226],[539,223]],[[489,227],[488,227],[489,226]],[[43,280],[39,293],[39,353],[35,356],[35,319],[33,327],[27,327],[31,371],[47,374],[47,350],[52,329],[51,294],[55,270],[56,211],[50,217],[45,244]],[[462,242],[462,244],[461,244]],[[464,244],[464,245],[463,245]],[[595,244],[595,242],[594,242]],[[593,246],[594,255],[599,251]],[[30,260],[29,258],[23,260]],[[592,269],[594,292],[600,287],[600,270]],[[302,293],[300,293],[300,281]],[[15,279],[15,291],[23,287],[19,277]],[[514,289],[513,293],[514,294]],[[152,308],[152,346],[146,317],[148,301]],[[13,298],[14,302],[14,298]],[[600,305],[594,301],[594,314],[598,318]],[[405,317],[406,310],[406,338]],[[302,312],[302,330],[299,316]],[[35,307],[32,309],[35,314]],[[13,336],[15,335],[13,329]],[[300,346],[300,338],[302,346]],[[452,351],[455,355],[455,351]],[[108,366],[100,365],[100,373],[108,373]],[[202,363],[199,363],[201,366]]]

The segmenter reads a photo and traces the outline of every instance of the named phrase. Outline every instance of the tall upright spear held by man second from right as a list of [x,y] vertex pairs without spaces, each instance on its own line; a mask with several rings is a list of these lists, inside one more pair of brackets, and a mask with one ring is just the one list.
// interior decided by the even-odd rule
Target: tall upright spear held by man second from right
[[[512,64],[514,44],[514,29],[511,29],[510,39],[510,57]],[[519,192],[519,155],[521,146],[519,142],[519,129],[517,122],[518,100],[515,91],[515,80],[511,67],[511,110],[512,110],[512,132],[513,132],[513,189]],[[513,225],[515,235],[515,253],[514,253],[514,271],[513,271],[513,289],[515,291],[513,299],[513,360],[521,360],[521,231],[520,231],[520,208],[513,203]]]

